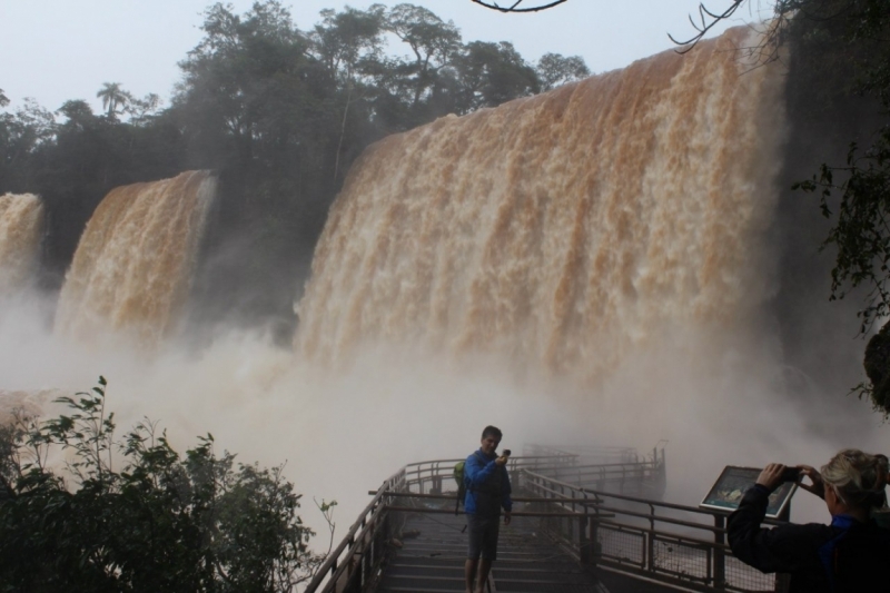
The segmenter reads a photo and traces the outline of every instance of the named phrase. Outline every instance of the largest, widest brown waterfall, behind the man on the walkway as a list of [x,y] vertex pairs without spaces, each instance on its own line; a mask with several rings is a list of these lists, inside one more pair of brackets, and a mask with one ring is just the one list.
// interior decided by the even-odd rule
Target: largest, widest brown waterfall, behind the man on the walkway
[[349,172],[297,350],[504,355],[597,380],[659,327],[733,330],[770,296],[785,136],[748,29],[388,137]]

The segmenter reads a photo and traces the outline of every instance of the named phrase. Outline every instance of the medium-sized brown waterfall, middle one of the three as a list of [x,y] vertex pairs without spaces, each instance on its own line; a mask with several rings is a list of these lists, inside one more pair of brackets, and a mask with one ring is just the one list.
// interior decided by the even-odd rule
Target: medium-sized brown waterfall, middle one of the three
[[209,171],[112,189],[87,224],[59,296],[56,332],[170,335],[189,293],[216,191]]

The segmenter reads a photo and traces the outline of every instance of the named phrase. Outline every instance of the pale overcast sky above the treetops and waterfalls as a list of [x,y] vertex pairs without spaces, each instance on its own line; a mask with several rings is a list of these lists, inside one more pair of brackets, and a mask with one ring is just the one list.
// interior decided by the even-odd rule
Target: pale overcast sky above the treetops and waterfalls
[[[535,0],[526,0],[531,2]],[[0,0],[0,89],[56,110],[68,99],[96,99],[102,82],[165,101],[179,79],[177,62],[201,38],[208,0]],[[253,0],[234,0],[244,13]],[[324,8],[365,9],[372,1],[284,0],[298,28],[310,29]],[[384,1],[393,6],[395,1]],[[512,41],[535,62],[543,53],[582,56],[593,72],[622,68],[672,47],[668,32],[689,37],[698,0],[568,0],[551,10],[503,14],[469,0],[415,0],[461,29],[464,41]],[[723,10],[729,0],[706,0]],[[730,24],[760,20],[767,0],[740,10]],[[758,12],[760,11],[760,13]],[[722,29],[721,29],[722,30]],[[403,52],[399,49],[399,53]]]

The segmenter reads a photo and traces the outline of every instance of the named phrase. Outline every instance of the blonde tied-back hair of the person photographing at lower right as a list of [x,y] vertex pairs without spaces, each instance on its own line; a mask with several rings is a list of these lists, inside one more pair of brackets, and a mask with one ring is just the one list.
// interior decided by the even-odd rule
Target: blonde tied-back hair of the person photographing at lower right
[[822,466],[822,481],[834,488],[846,504],[873,508],[887,504],[883,488],[888,478],[884,455],[869,455],[858,448],[839,451]]

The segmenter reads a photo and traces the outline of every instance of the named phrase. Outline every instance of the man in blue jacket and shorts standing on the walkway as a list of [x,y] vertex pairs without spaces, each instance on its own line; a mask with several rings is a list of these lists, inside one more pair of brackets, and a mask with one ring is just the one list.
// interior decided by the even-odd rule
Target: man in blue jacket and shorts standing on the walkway
[[469,531],[469,550],[464,565],[466,593],[484,593],[492,561],[497,560],[501,507],[504,508],[504,525],[510,525],[513,511],[506,468],[508,455],[495,453],[502,436],[498,428],[486,426],[482,431],[482,446],[464,464],[464,508]]

